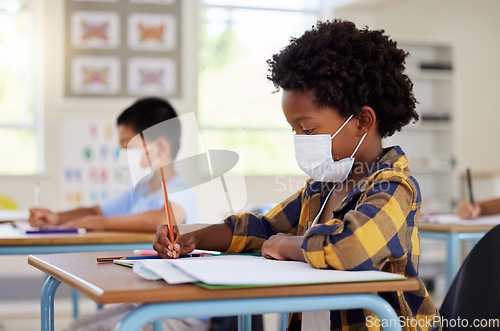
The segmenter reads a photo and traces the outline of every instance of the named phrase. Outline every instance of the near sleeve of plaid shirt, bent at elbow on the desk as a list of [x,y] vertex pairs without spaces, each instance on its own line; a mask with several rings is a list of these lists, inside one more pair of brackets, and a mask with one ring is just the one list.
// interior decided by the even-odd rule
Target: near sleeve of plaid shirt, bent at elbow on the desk
[[402,172],[382,171],[368,180],[354,209],[343,219],[317,224],[304,236],[302,249],[315,268],[381,270],[389,257],[401,257],[411,245],[407,221],[419,206],[415,188]]

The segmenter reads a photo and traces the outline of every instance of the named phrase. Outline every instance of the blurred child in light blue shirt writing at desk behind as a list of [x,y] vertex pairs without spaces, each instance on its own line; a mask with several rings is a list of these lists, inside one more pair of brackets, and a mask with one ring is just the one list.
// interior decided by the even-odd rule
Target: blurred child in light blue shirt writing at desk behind
[[[166,100],[151,97],[136,101],[117,119],[121,148],[126,149],[129,141],[147,128],[175,119],[174,129],[166,132],[166,137],[158,137],[155,145],[155,151],[167,155],[168,159],[175,159],[180,148],[181,136],[180,123],[176,117],[177,113]],[[137,162],[137,166],[140,166],[140,156]],[[164,167],[164,171],[167,190],[177,192],[169,196],[177,223],[193,223],[197,218],[196,201],[194,193],[189,189],[186,190],[189,184],[176,173],[173,163]],[[155,173],[154,176],[160,176],[160,174]],[[32,208],[29,222],[32,226],[62,225],[89,230],[153,232],[158,225],[166,222],[166,216],[161,181],[151,180],[150,183],[151,186],[147,189],[151,193],[147,196],[139,195],[134,187],[130,187],[97,206],[80,207],[64,212]]]

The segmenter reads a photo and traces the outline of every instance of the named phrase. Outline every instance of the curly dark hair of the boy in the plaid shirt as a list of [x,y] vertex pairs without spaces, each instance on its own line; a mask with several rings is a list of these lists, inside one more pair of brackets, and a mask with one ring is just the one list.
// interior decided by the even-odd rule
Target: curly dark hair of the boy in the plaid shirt
[[315,106],[334,107],[344,117],[370,106],[387,137],[418,120],[413,83],[403,73],[407,56],[384,30],[318,21],[267,60],[267,78],[278,90],[312,92]]

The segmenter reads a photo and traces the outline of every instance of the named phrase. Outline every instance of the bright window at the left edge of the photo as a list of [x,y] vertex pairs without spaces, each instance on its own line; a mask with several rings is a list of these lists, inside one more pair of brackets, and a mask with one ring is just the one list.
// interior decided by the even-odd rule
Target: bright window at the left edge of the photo
[[0,175],[43,170],[39,0],[0,0]]

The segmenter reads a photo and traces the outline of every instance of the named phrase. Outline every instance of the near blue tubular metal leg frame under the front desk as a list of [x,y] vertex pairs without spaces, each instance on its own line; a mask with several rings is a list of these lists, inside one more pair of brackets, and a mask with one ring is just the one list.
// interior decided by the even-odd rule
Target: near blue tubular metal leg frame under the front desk
[[161,318],[218,316],[221,312],[228,315],[256,315],[268,312],[287,313],[290,311],[367,309],[372,311],[387,325],[384,330],[401,330],[398,315],[391,305],[374,294],[338,294],[303,297],[258,298],[210,300],[195,302],[156,303],[138,307],[116,326],[116,331],[139,330],[151,321]]

